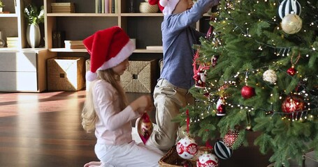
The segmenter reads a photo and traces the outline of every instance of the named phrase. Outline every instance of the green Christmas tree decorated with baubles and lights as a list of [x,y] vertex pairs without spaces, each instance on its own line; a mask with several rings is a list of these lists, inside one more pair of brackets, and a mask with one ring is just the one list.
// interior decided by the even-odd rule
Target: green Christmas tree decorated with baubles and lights
[[196,102],[175,121],[234,152],[260,132],[254,144],[275,166],[318,159],[318,1],[224,0],[210,25],[194,45]]

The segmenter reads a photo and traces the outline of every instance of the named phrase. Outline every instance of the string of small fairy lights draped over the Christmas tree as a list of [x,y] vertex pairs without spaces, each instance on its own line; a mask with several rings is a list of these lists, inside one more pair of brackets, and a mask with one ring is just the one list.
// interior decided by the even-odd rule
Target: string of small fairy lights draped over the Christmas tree
[[[268,1],[268,0],[264,0],[264,2],[270,2],[271,6],[274,6],[273,8],[277,8],[277,6],[280,4],[280,1]],[[277,3],[278,2],[278,3]],[[241,1],[226,1],[225,6],[220,6],[218,8],[219,11],[226,11],[226,13],[229,15],[229,17],[225,17],[223,20],[218,20],[217,18],[212,19],[212,22],[215,23],[221,23],[221,24],[235,24],[234,29],[232,30],[237,31],[240,30],[241,34],[244,37],[247,38],[252,38],[253,39],[253,35],[249,32],[249,28],[245,28],[244,26],[249,25],[249,23],[245,22],[244,26],[240,26],[239,24],[233,22],[233,19],[231,19],[231,11],[235,10],[236,7],[240,6]],[[256,3],[260,3],[260,1],[257,1]],[[276,6],[276,7],[275,7]],[[312,4],[310,4],[308,2],[308,6],[310,6],[310,8],[312,9],[317,9],[315,6],[312,6]],[[253,13],[255,12],[255,10],[252,10],[250,12],[247,13],[247,16],[253,15]],[[317,18],[317,16],[312,17],[312,18]],[[231,22],[228,22],[231,21]],[[279,26],[279,23],[277,23],[277,18],[276,16],[272,17],[272,20],[266,21],[266,20],[262,20],[259,19],[259,22],[269,22],[270,24],[277,24],[276,29],[278,31],[281,31],[281,28]],[[318,28],[318,20],[315,20],[313,22],[310,23],[304,23],[307,24],[309,27],[313,27],[313,26],[317,26]],[[225,27],[223,26],[223,29],[225,29]],[[306,29],[303,29],[304,32],[307,32]],[[217,33],[213,32],[213,39],[212,39],[212,44],[215,45],[216,47],[218,46],[222,46],[222,42],[219,40],[219,38],[217,38]],[[262,51],[265,47],[270,47],[272,49],[275,49],[274,54],[276,56],[291,56],[290,53],[293,49],[293,47],[287,46],[287,47],[282,47],[282,46],[277,46],[275,40],[272,40],[272,44],[269,45],[267,43],[261,42],[259,40],[256,40],[256,38],[254,38],[253,40],[255,40],[255,42],[257,44],[259,44],[259,51]],[[206,42],[206,41],[203,41]],[[317,51],[318,46],[315,45],[311,45],[310,49],[312,51]],[[310,54],[305,54],[305,57],[310,57]],[[206,57],[204,57],[206,58]],[[273,62],[274,64],[282,64],[279,61],[275,61]],[[266,67],[260,67],[259,69],[256,70],[246,70],[245,72],[237,72],[233,77],[231,77],[233,79],[233,81],[224,81],[224,85],[223,86],[235,86],[236,88],[238,88],[238,85],[236,84],[236,79],[242,79],[245,84],[247,84],[247,79],[249,78],[249,74],[261,74],[263,72],[262,69],[268,69],[268,66]],[[281,70],[282,71],[282,70]],[[301,75],[298,75],[298,77],[303,77]],[[316,79],[318,76],[316,76]],[[201,111],[201,114],[198,118],[191,118],[190,122],[199,122],[201,119],[205,119],[207,116],[210,116],[212,113],[216,113],[216,109],[214,108],[213,104],[216,104],[217,100],[220,97],[220,90],[219,88],[217,89],[216,93],[212,93],[215,88],[220,87],[218,86],[219,81],[215,80],[210,81],[210,83],[208,83],[210,86],[207,86],[203,89],[203,91],[205,93],[208,93],[208,95],[206,97],[207,100],[203,101],[203,104],[208,104],[208,107],[204,106],[191,106],[192,109],[194,110],[196,108],[196,110]],[[259,84],[256,84],[256,86],[258,86]],[[276,86],[276,83],[273,84],[273,86]],[[262,109],[262,108],[258,108],[258,110],[262,110],[265,111],[266,114],[270,115],[271,117],[275,116],[276,114],[280,114],[280,116],[282,116],[282,120],[291,120],[291,121],[296,121],[296,120],[314,120],[314,118],[318,118],[318,96],[317,95],[313,95],[312,93],[310,93],[310,90],[306,89],[306,86],[304,84],[300,84],[301,87],[303,87],[303,90],[301,90],[301,92],[299,93],[291,93],[294,95],[300,95],[301,97],[303,97],[303,100],[305,101],[306,104],[306,109],[302,110],[302,111],[294,111],[292,113],[284,113],[284,112],[280,112],[280,111],[275,111],[273,109],[273,102],[270,102],[270,109]],[[223,91],[223,90],[221,90]],[[286,90],[285,90],[286,91]],[[245,113],[247,114],[247,125],[250,125],[250,112],[255,111],[254,107],[252,106],[245,106],[243,104],[235,104],[235,103],[231,103],[229,101],[227,101],[227,95],[222,95],[222,97],[224,97],[225,99],[225,104],[226,106],[229,106],[230,108],[235,108],[237,107],[238,109],[240,109],[240,113]],[[273,93],[270,94],[270,97],[273,97]],[[283,96],[280,95],[278,97],[278,99],[280,101],[283,100]],[[201,100],[198,100],[199,102]],[[313,106],[314,108],[312,109]],[[294,116],[296,115],[296,116]]]

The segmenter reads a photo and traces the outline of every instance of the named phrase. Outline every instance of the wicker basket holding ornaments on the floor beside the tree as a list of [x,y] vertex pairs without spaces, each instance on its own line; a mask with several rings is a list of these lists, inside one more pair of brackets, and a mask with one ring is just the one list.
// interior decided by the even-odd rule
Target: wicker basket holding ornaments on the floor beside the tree
[[[196,166],[196,159],[198,159],[198,157],[200,157],[202,154],[204,154],[205,151],[208,151],[209,149],[207,147],[199,147],[198,148],[198,153],[196,153],[196,156],[194,156],[193,158],[187,160],[187,161],[191,161],[191,164],[193,166]],[[177,150],[175,148],[175,146],[173,146],[172,148],[170,148],[168,150],[168,152],[164,155],[164,157],[162,157],[159,160],[159,166],[161,167],[180,167],[182,166],[181,163],[182,161],[185,161],[185,159],[182,159],[178,153]]]

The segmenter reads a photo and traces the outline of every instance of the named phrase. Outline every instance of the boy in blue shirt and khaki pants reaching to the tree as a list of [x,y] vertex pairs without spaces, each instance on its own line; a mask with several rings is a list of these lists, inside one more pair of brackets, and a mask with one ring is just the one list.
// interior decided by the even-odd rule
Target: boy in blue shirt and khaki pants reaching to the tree
[[196,31],[191,25],[198,22],[204,13],[217,6],[219,0],[148,0],[159,5],[164,13],[161,23],[164,48],[164,65],[157,86],[154,88],[154,106],[158,129],[152,132],[147,145],[160,150],[168,150],[175,145],[178,123],[171,120],[193,97],[188,93],[194,85],[193,45],[199,45],[199,38],[205,33]]

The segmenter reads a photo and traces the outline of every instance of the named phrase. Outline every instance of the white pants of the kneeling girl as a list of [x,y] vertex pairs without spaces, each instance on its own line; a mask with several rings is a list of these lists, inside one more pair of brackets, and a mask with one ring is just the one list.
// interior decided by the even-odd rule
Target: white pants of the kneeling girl
[[95,154],[103,162],[103,167],[157,167],[164,153],[157,148],[131,141],[124,145],[95,145]]

